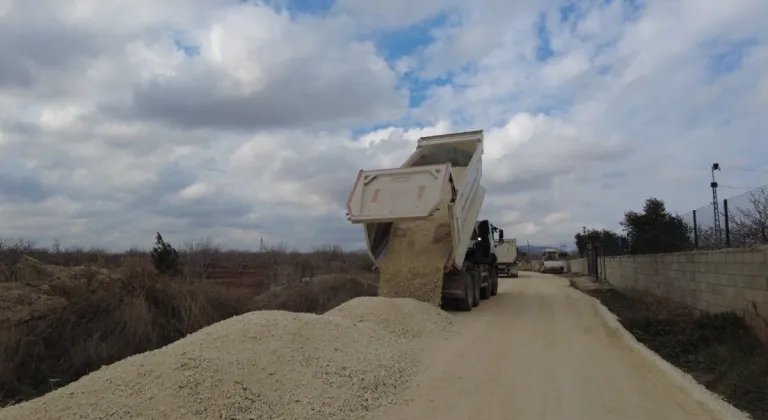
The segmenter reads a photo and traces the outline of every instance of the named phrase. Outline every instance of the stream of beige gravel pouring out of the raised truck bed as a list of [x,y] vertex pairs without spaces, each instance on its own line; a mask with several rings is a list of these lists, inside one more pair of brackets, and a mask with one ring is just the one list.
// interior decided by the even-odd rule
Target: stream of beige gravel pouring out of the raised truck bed
[[443,271],[451,254],[448,213],[450,187],[432,217],[395,222],[384,256],[379,261],[379,295],[413,298],[440,306]]

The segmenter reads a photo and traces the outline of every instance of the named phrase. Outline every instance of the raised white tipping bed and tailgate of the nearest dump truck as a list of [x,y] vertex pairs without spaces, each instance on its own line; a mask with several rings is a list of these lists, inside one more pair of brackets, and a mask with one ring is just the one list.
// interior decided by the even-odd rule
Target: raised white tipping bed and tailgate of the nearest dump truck
[[422,137],[397,169],[361,170],[347,200],[347,218],[363,224],[374,264],[386,249],[392,222],[432,216],[446,205],[452,247],[445,268],[460,268],[485,200],[482,177],[483,131]]

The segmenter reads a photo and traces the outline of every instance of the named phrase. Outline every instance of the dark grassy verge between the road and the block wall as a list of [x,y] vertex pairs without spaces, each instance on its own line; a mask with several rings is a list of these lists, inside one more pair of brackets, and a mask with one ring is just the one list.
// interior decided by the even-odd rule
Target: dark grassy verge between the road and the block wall
[[753,419],[768,420],[768,349],[743,317],[697,313],[652,295],[610,288],[586,293],[648,348]]

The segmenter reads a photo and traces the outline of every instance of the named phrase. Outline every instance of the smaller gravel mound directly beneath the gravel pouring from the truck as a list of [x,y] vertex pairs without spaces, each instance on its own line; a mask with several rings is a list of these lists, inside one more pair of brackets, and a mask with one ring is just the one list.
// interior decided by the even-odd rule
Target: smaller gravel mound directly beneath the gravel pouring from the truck
[[370,322],[404,339],[418,339],[453,332],[453,317],[413,299],[361,297],[350,300],[326,315],[354,322]]

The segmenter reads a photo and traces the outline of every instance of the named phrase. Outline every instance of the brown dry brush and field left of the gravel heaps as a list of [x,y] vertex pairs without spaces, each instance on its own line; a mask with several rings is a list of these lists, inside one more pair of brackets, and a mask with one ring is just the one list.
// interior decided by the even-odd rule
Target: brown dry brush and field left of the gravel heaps
[[367,257],[339,247],[225,251],[201,240],[178,256],[176,274],[161,275],[146,251],[0,240],[0,406],[235,315],[323,313],[378,291]]

